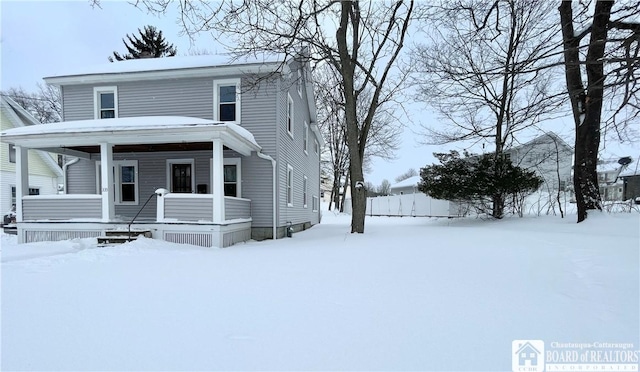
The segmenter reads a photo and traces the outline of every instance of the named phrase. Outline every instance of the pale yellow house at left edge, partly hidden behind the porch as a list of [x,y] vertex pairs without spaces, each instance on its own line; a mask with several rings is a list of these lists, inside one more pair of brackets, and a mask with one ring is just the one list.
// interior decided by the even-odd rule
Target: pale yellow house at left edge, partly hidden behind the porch
[[[13,99],[0,97],[0,123],[2,132],[40,124]],[[16,149],[11,143],[0,144],[0,213],[11,211],[16,204]],[[62,169],[52,154],[29,151],[28,177],[25,177],[26,195],[52,195],[62,185]]]

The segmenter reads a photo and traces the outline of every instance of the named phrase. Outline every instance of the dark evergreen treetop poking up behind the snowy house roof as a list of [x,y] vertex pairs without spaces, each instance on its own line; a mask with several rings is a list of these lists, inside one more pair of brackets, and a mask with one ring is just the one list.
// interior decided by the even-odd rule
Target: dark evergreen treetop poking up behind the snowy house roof
[[109,62],[125,59],[173,57],[178,52],[173,44],[169,44],[164,39],[162,31],[155,26],[144,26],[144,31],[138,29],[138,33],[139,37],[127,34],[128,42],[125,39],[122,39],[122,42],[128,53],[120,55],[114,51],[113,57],[109,56]]

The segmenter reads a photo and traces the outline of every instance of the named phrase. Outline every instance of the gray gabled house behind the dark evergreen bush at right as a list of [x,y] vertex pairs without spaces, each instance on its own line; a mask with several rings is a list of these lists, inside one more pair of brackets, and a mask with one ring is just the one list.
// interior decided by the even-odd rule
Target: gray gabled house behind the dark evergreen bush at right
[[504,151],[514,165],[535,171],[544,180],[542,189],[564,191],[571,185],[573,148],[553,132]]

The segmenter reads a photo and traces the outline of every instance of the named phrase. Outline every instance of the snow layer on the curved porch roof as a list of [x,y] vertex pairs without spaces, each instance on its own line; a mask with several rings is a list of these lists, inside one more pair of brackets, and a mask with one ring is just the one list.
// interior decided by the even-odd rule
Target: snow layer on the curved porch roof
[[[233,123],[224,123],[213,120],[192,118],[187,116],[138,116],[130,118],[116,119],[93,119],[65,121],[60,123],[50,123],[41,125],[31,125],[3,131],[4,136],[26,136],[26,135],[52,135],[64,133],[97,133],[97,132],[119,132],[142,129],[179,129],[195,126],[216,126],[227,127],[249,142],[258,146],[253,134]],[[259,146],[258,146],[259,147]]]

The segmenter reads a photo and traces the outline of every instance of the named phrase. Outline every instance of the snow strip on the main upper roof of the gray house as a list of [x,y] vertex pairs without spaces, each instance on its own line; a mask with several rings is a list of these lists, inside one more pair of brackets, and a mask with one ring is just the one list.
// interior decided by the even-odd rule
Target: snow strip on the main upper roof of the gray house
[[174,56],[164,58],[141,58],[125,61],[102,63],[72,71],[55,71],[45,79],[93,74],[122,74],[131,72],[149,72],[179,70],[216,66],[242,66],[282,62],[280,55],[262,55],[251,57],[234,57],[231,55]]

